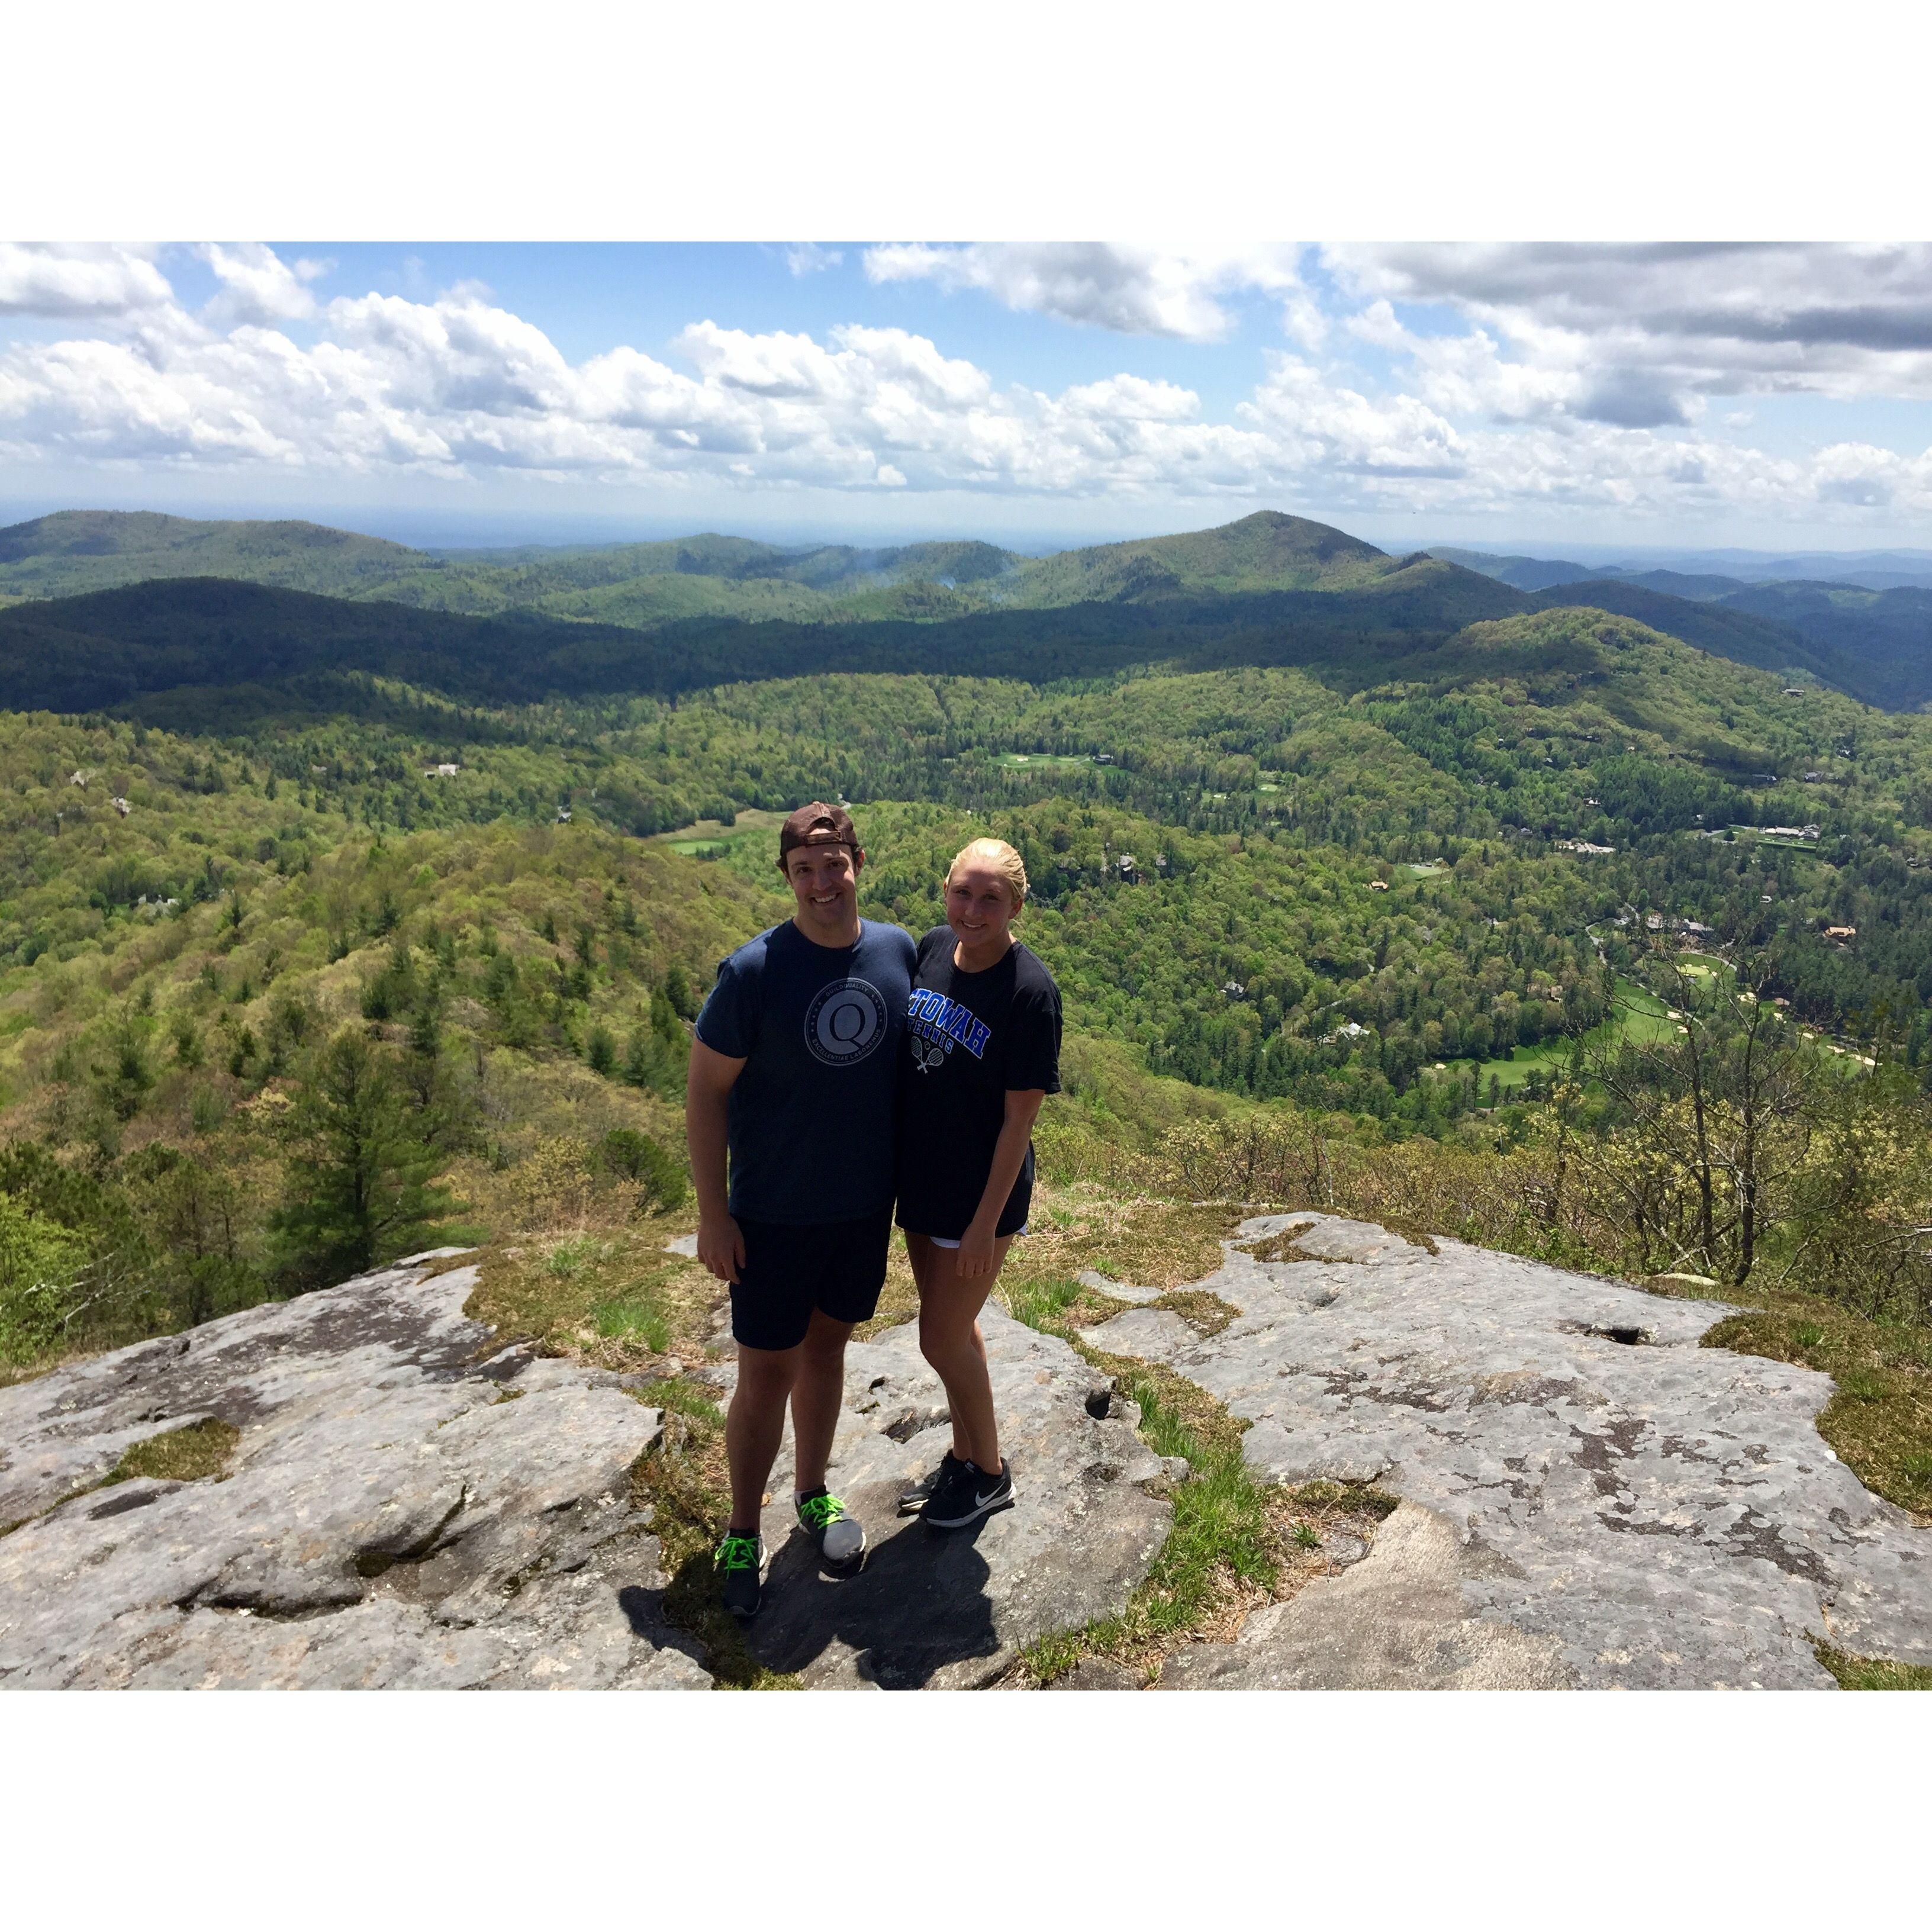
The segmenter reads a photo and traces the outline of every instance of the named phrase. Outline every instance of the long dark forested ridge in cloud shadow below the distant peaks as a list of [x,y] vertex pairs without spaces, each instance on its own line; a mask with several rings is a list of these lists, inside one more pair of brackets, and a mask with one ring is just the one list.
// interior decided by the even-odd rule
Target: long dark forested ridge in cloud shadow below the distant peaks
[[0,703],[77,711],[143,692],[346,670],[497,701],[676,692],[813,670],[1063,678],[1177,661],[1333,663],[1354,676],[1520,603],[1453,564],[1422,562],[1339,591],[980,611],[947,622],[694,618],[636,630],[172,578],[0,611]]

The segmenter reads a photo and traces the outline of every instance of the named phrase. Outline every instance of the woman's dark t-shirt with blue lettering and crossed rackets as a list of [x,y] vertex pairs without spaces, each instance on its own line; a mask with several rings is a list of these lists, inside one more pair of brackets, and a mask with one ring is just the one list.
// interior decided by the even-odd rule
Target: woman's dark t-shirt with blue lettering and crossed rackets
[[[958,1240],[980,1211],[1007,1094],[1061,1090],[1061,993],[1018,941],[985,972],[952,964],[952,929],[920,941],[906,1012],[898,1128],[898,1221]],[[1028,1144],[999,1231],[1024,1219],[1034,1186]],[[1009,1227],[1010,1221],[1010,1227]]]

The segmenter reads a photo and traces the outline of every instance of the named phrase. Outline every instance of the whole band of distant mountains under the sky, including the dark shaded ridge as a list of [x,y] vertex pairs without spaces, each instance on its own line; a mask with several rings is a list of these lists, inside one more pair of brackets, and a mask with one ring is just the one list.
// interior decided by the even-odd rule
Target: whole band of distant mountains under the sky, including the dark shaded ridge
[[[41,639],[12,653],[0,699],[112,705],[139,692],[236,684],[251,663],[257,680],[381,670],[506,699],[690,690],[794,668],[1051,667],[1076,676],[1169,659],[1335,659],[1345,674],[1341,659],[1362,645],[1379,663],[1401,636],[1441,639],[1466,624],[1573,605],[1868,703],[1905,709],[1932,697],[1932,593],[1573,572],[1584,566],[1484,553],[1397,558],[1273,510],[1039,558],[972,541],[784,549],[715,533],[431,553],[299,522],[60,512],[0,531],[6,636]],[[214,582],[365,614],[222,597]],[[114,597],[162,583],[176,589]],[[253,626],[259,653],[238,626]]]

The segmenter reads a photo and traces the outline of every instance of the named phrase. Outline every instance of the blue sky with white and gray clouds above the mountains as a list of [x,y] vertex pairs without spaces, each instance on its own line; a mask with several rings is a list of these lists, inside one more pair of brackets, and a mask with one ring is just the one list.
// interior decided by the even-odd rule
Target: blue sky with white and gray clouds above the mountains
[[0,518],[1045,549],[1932,529],[1932,249],[0,243]]

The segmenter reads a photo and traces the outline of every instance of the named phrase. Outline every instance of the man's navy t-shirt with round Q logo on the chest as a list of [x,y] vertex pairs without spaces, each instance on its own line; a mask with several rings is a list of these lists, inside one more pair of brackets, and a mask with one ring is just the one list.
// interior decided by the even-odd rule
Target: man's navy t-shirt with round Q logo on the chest
[[697,1037],[744,1061],[730,1090],[730,1211],[811,1227],[893,1206],[898,1045],[912,933],[860,923],[856,947],[792,925],[719,966]]

